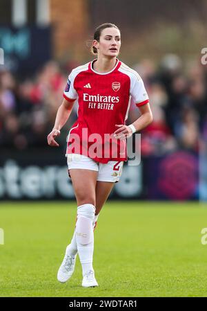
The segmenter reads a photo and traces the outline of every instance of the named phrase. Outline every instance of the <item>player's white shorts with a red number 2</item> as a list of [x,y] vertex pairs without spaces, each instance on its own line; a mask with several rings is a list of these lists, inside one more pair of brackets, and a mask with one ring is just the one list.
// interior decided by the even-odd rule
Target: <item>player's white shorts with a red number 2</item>
[[98,163],[83,154],[67,154],[68,173],[73,168],[85,170],[96,170],[98,173],[97,181],[118,182],[121,177],[124,161],[108,161],[108,163]]

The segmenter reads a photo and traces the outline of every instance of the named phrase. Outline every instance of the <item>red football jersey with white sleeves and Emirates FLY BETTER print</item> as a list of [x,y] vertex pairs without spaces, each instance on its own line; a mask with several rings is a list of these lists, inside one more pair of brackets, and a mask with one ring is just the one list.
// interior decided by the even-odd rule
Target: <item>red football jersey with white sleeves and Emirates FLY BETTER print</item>
[[66,154],[78,153],[97,162],[126,161],[126,139],[113,137],[116,124],[125,124],[130,96],[137,107],[149,102],[138,73],[123,62],[108,73],[98,73],[89,62],[72,70],[63,97],[77,99],[78,118],[68,134]]

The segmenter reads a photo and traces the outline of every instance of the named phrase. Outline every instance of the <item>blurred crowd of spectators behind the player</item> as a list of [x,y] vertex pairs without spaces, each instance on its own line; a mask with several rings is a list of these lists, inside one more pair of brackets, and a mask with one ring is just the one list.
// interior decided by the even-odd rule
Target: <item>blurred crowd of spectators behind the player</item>
[[[177,149],[198,151],[207,140],[207,71],[199,60],[185,64],[177,55],[165,55],[158,65],[141,60],[134,69],[144,80],[153,121],[142,131],[144,155]],[[61,105],[68,70],[50,61],[30,78],[21,80],[2,66],[0,71],[0,149],[26,150],[47,145]],[[77,103],[61,135],[77,118]],[[128,123],[139,116],[131,103]]]

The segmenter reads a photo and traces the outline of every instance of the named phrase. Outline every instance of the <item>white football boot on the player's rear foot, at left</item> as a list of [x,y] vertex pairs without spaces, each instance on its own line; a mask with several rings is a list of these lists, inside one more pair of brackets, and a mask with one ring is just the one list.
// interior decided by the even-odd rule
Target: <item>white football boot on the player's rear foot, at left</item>
[[61,283],[67,282],[75,270],[75,260],[77,255],[70,256],[67,254],[67,250],[68,247],[66,247],[66,254],[57,272],[57,280]]

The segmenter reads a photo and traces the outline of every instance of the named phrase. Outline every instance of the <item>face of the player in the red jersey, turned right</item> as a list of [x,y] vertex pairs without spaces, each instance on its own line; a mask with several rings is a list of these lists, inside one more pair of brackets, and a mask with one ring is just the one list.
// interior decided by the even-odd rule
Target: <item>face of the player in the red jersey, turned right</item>
[[98,55],[117,57],[121,46],[121,35],[117,28],[105,28],[101,31],[99,42],[94,41]]

